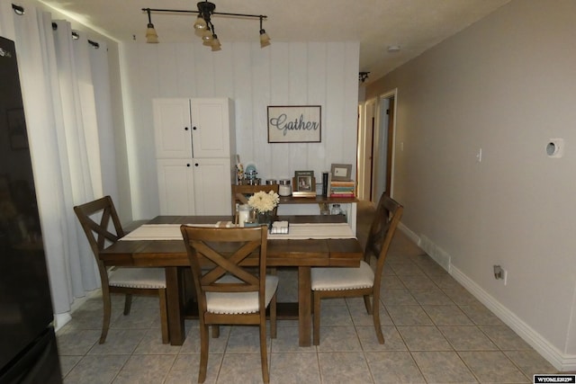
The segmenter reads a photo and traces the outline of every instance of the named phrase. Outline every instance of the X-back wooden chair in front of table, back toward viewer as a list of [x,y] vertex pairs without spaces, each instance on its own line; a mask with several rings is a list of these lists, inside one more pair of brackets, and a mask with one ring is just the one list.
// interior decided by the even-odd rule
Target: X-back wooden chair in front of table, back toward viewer
[[266,308],[269,307],[270,313],[270,336],[275,338],[278,277],[266,274],[266,226],[205,228],[183,225],[180,230],[198,303],[201,348],[198,382],[206,380],[209,326],[212,326],[212,336],[218,336],[218,326],[225,324],[259,326],[262,379],[269,382]]

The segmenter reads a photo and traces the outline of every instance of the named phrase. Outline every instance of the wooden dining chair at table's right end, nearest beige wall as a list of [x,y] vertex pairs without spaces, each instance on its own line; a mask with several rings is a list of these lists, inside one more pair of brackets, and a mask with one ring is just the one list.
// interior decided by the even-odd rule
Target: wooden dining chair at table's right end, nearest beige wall
[[[365,246],[364,261],[358,268],[312,268],[311,287],[313,301],[313,343],[320,344],[320,300],[324,298],[364,297],[365,308],[374,320],[378,342],[384,344],[380,325],[380,287],[384,260],[400,223],[404,208],[385,194],[376,207]],[[375,270],[371,258],[375,257]],[[372,295],[372,305],[370,296]]]

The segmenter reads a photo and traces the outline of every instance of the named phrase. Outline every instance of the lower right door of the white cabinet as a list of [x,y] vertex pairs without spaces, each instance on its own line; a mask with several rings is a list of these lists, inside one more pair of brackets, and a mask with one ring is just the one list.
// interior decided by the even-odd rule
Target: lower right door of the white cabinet
[[229,158],[194,158],[193,165],[196,215],[231,215]]

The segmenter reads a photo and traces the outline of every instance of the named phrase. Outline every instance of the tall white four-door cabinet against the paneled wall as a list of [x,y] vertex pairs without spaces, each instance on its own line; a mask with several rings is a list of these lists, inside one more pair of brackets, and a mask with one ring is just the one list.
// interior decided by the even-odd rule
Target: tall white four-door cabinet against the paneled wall
[[153,100],[161,215],[230,215],[234,104],[228,98]]

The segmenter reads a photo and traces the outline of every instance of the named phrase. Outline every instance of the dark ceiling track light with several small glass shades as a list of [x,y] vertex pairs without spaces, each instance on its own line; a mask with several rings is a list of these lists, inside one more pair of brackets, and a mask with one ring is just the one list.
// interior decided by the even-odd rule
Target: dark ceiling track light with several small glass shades
[[238,18],[251,18],[260,20],[260,48],[270,45],[270,37],[262,27],[262,22],[268,16],[264,14],[247,14],[247,13],[224,13],[215,12],[216,4],[209,1],[201,1],[198,4],[198,11],[177,10],[177,9],[157,9],[157,8],[142,8],[142,11],[148,13],[148,27],[146,29],[146,42],[157,43],[158,35],[152,23],[150,13],[193,13],[197,14],[196,21],[193,23],[194,32],[202,39],[202,45],[211,47],[212,51],[220,50],[221,44],[218,36],[214,31],[214,24],[211,21],[213,15],[238,17]]

